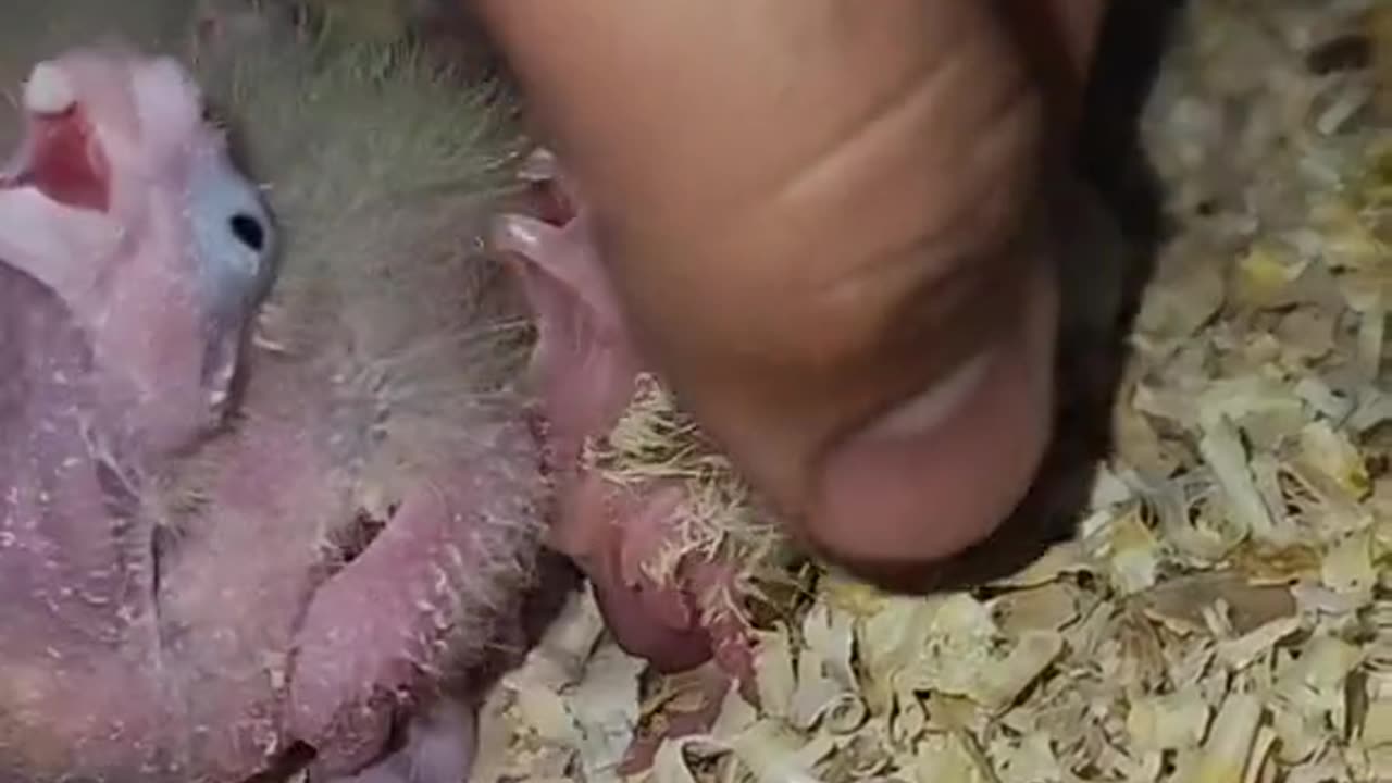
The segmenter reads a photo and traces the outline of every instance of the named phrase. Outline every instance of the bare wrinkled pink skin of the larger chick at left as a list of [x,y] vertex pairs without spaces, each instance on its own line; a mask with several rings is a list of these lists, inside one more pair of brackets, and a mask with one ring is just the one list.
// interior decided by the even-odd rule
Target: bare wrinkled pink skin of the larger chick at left
[[[15,174],[42,167],[42,144],[0,178],[0,210],[7,191],[53,196],[39,233],[122,228],[81,256],[25,255],[0,234],[0,782],[232,783],[294,743],[317,752],[315,780],[459,780],[472,737],[448,697],[477,692],[498,648],[515,656],[528,639],[546,485],[525,408],[454,422],[476,449],[411,474],[361,553],[354,460],[377,414],[335,386],[359,369],[352,346],[246,347],[241,415],[209,433],[210,385],[226,379],[200,372],[209,259],[188,241],[207,216],[180,174],[205,128],[131,123],[132,96],[196,104],[173,82],[135,88],[148,60],[100,57],[106,68],[72,70],[77,116],[124,135],[97,135],[88,152],[109,166],[78,176],[117,198],[63,203],[35,184],[53,177]],[[143,404],[142,385],[173,396]],[[161,504],[195,497],[182,513]]]

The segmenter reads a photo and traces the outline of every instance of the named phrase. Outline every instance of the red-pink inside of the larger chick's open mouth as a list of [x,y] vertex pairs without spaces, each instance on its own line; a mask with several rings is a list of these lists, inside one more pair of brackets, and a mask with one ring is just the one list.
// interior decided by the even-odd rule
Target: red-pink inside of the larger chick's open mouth
[[77,100],[53,113],[25,109],[28,124],[17,160],[0,170],[0,189],[38,188],[52,201],[106,212],[111,170],[96,130]]

